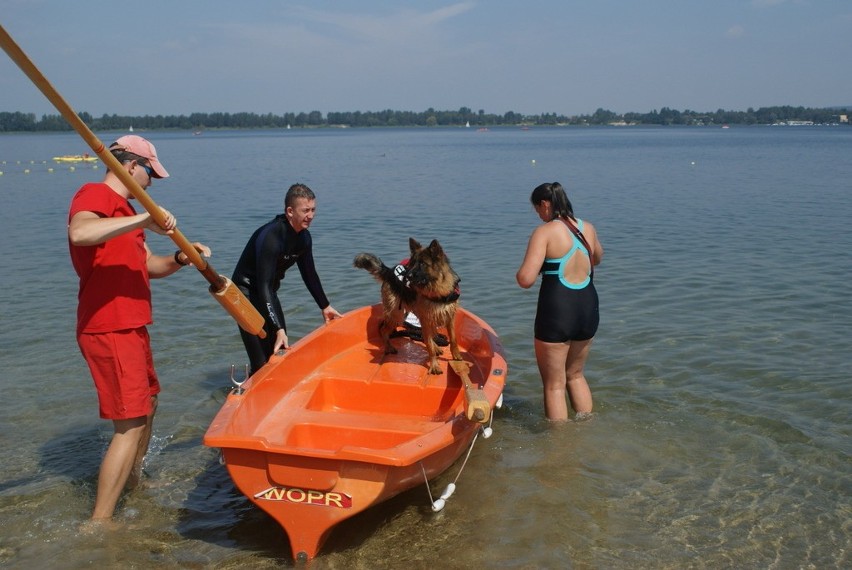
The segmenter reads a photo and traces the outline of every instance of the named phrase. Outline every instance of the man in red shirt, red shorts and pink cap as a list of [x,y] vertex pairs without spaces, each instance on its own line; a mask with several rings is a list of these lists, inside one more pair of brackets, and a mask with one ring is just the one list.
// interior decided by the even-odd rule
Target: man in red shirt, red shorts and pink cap
[[[121,137],[110,152],[142,188],[169,173],[150,142]],[[174,216],[163,209],[159,226],[137,214],[132,195],[114,173],[85,184],[71,200],[68,247],[80,277],[77,343],[98,392],[100,416],[112,420],[114,433],[101,463],[93,520],[110,519],[122,490],[139,481],[148,451],[160,384],[154,370],[147,325],[151,324],[149,279],[171,275],[188,265],[186,254],[154,255],[145,231],[171,233]],[[210,248],[194,243],[199,253]]]

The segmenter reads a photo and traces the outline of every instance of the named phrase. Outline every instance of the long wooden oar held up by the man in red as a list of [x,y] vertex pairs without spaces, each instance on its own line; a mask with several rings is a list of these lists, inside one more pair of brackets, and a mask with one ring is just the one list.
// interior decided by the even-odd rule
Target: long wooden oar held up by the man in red
[[[18,67],[30,78],[33,84],[38,87],[47,99],[53,103],[53,106],[65,117],[74,130],[83,137],[86,144],[97,154],[104,164],[115,174],[124,184],[133,197],[151,214],[151,217],[161,226],[165,224],[165,215],[160,207],[151,199],[147,192],[133,179],[127,170],[122,168],[121,163],[116,159],[109,150],[104,148],[103,143],[89,129],[86,123],[77,116],[74,109],[65,102],[59,92],[53,88],[50,82],[42,75],[35,64],[30,61],[27,54],[15,43],[15,40],[6,32],[6,29],[0,25],[0,44],[3,50],[12,58]],[[193,247],[192,243],[184,235],[175,228],[174,232],[169,235],[170,238],[178,245],[181,251],[186,254],[187,258],[192,262],[198,271],[210,283],[210,293],[219,301],[222,307],[237,321],[237,323],[246,331],[255,334],[261,338],[266,336],[266,331],[263,330],[263,316],[254,308],[254,306],[246,299],[242,291],[234,285],[230,279],[219,275],[213,267],[204,259],[200,253]]]

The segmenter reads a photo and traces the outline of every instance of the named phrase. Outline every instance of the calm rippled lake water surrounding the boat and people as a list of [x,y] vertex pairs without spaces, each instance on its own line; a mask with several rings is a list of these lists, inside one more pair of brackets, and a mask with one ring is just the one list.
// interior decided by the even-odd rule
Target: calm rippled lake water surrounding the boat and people
[[[338,310],[378,301],[356,253],[392,262],[409,236],[437,238],[462,305],[506,348],[494,436],[477,443],[447,507],[434,514],[425,487],[409,491],[338,526],[312,567],[852,566],[852,128],[148,137],[172,174],[152,197],[213,248],[221,273],[304,182],[318,195],[315,257]],[[291,565],[283,531],[201,444],[230,365],[246,358],[192,270],[153,285],[163,393],[150,477],[120,504],[118,530],[78,532],[111,428],[74,339],[66,212],[104,171],[50,159],[86,150],[75,134],[0,136],[0,566]],[[606,249],[587,367],[595,415],[563,425],[543,419],[537,287],[514,279],[538,222],[529,194],[554,180]],[[291,339],[319,326],[295,270],[281,298]]]

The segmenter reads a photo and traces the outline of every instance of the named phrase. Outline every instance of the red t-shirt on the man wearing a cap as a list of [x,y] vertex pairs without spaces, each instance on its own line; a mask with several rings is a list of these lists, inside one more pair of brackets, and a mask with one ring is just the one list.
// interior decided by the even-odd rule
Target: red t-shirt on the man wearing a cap
[[[84,185],[71,200],[68,221],[78,212],[102,218],[134,216],[125,198],[103,183]],[[151,324],[151,284],[145,232],[133,230],[99,245],[68,244],[80,277],[77,334],[133,329]]]

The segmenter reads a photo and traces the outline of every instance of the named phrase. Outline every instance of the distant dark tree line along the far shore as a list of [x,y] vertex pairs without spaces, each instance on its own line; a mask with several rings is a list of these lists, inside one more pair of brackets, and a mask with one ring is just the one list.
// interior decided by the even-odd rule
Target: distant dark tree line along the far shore
[[[310,113],[192,113],[191,115],[145,115],[131,117],[102,115],[93,117],[80,113],[80,118],[94,131],[128,130],[201,130],[201,129],[280,129],[286,127],[491,127],[501,125],[771,125],[786,121],[807,121],[815,124],[832,124],[841,115],[850,115],[846,108],[813,109],[805,107],[761,107],[747,111],[715,112],[678,111],[663,107],[649,113],[614,113],[598,109],[591,115],[565,116],[556,113],[522,115],[509,111],[502,115],[477,112],[468,107],[458,111],[437,111],[429,108],[415,111],[320,111]],[[61,115],[0,112],[0,132],[70,131],[71,127]]]

